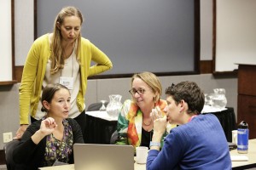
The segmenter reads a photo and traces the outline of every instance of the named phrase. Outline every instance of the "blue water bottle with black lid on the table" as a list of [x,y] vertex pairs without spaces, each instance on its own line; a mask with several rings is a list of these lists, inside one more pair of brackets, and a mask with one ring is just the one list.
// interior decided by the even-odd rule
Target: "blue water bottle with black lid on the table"
[[237,151],[240,154],[248,152],[249,129],[248,124],[242,121],[237,128]]

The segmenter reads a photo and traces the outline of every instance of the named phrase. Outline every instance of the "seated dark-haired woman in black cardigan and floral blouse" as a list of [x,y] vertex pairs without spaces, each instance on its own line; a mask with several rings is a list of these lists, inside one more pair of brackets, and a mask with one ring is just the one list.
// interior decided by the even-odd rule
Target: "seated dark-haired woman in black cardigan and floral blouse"
[[71,96],[61,84],[49,84],[42,94],[46,115],[27,127],[14,150],[14,161],[24,169],[52,166],[56,161],[73,163],[73,144],[84,143],[79,124],[67,118]]

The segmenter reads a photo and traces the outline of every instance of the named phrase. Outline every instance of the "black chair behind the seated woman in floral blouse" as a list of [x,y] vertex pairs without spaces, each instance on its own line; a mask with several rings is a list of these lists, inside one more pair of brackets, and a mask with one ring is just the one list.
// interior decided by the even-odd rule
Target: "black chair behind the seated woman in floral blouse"
[[15,147],[19,143],[20,143],[20,140],[14,139],[9,143],[5,144],[5,146],[3,147],[4,153],[5,153],[6,167],[8,170],[26,169],[23,165],[15,164],[15,161],[13,160],[13,151],[15,150]]

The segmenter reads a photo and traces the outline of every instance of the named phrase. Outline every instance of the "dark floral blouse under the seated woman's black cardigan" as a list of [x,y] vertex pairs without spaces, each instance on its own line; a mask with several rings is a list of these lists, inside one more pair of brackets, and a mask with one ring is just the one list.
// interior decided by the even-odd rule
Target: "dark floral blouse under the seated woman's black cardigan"
[[46,137],[46,147],[44,154],[44,165],[52,166],[55,161],[67,163],[68,157],[73,150],[73,131],[67,120],[63,121],[64,135],[62,141],[55,139],[53,134]]

